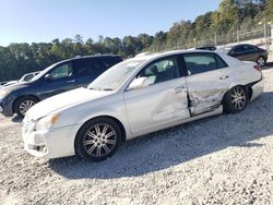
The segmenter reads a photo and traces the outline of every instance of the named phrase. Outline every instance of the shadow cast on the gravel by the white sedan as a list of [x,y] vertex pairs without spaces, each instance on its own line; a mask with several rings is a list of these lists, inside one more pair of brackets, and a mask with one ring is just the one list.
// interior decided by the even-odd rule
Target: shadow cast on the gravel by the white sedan
[[264,93],[237,114],[222,114],[124,142],[111,158],[88,162],[68,157],[49,167],[69,179],[135,177],[177,166],[227,147],[259,148],[251,142],[273,134],[273,94]]

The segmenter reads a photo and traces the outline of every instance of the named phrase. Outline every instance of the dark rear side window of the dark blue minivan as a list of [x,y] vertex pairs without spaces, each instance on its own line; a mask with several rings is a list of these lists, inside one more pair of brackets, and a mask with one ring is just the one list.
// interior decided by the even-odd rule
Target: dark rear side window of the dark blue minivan
[[105,69],[97,59],[80,59],[74,61],[74,73],[76,77],[92,76],[97,77]]

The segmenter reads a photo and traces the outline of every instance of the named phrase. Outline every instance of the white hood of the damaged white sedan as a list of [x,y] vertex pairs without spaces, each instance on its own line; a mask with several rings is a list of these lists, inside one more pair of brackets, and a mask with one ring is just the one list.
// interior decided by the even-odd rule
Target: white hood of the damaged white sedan
[[33,120],[38,120],[52,112],[58,112],[60,109],[70,108],[86,101],[98,99],[110,95],[111,93],[112,92],[109,91],[95,91],[81,87],[56,95],[36,104],[27,111],[26,116]]

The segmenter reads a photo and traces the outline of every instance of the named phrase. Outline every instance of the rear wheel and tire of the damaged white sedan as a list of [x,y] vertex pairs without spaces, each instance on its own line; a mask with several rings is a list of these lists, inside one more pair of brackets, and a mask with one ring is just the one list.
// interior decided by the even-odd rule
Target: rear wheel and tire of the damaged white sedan
[[248,93],[245,87],[235,86],[224,96],[224,111],[228,113],[240,112],[246,108],[248,100]]

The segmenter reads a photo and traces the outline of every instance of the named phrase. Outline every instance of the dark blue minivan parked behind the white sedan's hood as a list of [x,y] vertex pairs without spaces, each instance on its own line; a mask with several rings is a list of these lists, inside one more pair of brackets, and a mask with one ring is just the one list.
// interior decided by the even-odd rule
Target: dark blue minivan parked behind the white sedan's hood
[[0,89],[0,112],[9,117],[25,112],[36,102],[50,96],[87,86],[111,65],[122,61],[114,55],[76,57],[57,62],[41,71],[29,82]]

